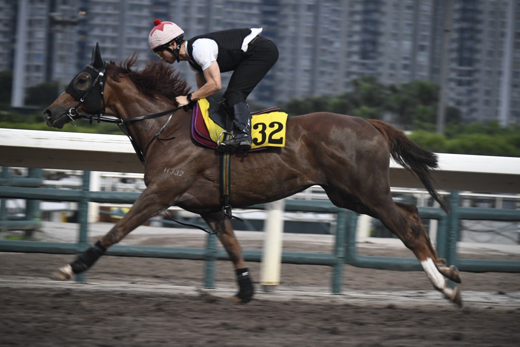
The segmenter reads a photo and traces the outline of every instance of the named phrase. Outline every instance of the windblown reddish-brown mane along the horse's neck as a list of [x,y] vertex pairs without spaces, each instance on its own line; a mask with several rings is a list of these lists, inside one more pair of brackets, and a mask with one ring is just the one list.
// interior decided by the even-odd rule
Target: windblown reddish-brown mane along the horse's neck
[[115,82],[120,82],[124,76],[127,76],[139,92],[148,97],[164,95],[175,101],[176,96],[187,95],[190,92],[190,86],[185,80],[179,78],[179,72],[160,60],[148,61],[146,67],[140,71],[133,69],[137,57],[138,54],[134,53],[119,66],[111,61],[107,66],[108,76]]

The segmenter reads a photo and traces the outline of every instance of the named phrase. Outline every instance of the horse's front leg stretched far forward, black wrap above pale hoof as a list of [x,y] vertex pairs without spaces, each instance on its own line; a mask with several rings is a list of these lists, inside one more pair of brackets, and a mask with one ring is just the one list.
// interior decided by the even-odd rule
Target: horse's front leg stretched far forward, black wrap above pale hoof
[[98,240],[93,246],[77,255],[76,259],[51,274],[50,278],[56,280],[69,280],[72,275],[87,271],[96,263],[107,249],[121,241],[126,235],[139,225],[145,223],[153,214],[168,208],[164,197],[161,197],[154,189],[147,188],[137,198],[132,208],[116,223],[110,232]]

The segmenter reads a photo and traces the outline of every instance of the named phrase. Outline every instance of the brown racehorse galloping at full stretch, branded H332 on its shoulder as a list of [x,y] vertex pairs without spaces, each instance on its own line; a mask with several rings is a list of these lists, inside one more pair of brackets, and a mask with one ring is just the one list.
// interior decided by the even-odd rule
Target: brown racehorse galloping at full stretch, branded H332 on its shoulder
[[[175,96],[189,93],[186,81],[156,61],[137,72],[132,69],[135,60],[132,56],[122,66],[104,62],[97,46],[92,63],[44,111],[47,125],[57,128],[80,117],[105,120],[103,114],[113,115],[142,153],[147,186],[110,232],[54,276],[70,279],[86,271],[151,215],[176,205],[200,214],[213,230],[219,230],[216,235],[237,273],[239,292],[232,299],[249,302],[254,292],[251,277],[220,201],[220,153],[192,140],[191,111],[178,109],[171,121],[159,117],[175,107]],[[394,202],[389,186],[392,157],[418,177],[448,212],[433,185],[434,153],[384,122],[329,112],[289,117],[285,136],[285,147],[231,155],[233,207],[276,201],[319,185],[336,206],[381,220],[415,254],[433,286],[461,305],[459,290],[450,288],[445,278],[460,283],[457,268],[439,258],[417,207]]]

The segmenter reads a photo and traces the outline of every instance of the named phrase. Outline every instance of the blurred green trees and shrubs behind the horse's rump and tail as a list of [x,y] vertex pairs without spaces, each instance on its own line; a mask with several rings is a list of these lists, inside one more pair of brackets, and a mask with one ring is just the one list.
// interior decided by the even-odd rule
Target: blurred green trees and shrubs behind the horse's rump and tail
[[290,115],[327,111],[361,118],[388,119],[419,146],[441,153],[520,157],[520,127],[496,121],[463,124],[459,109],[446,108],[445,135],[436,133],[439,88],[430,81],[382,85],[371,76],[352,81],[352,91],[337,96],[292,99],[282,108]]

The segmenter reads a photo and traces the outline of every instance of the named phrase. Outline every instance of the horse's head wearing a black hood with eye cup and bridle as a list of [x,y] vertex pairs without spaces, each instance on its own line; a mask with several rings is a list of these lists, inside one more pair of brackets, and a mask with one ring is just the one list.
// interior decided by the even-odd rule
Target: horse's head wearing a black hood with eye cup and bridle
[[103,91],[107,75],[107,62],[101,58],[99,43],[92,50],[92,62],[78,73],[62,93],[47,109],[44,110],[45,122],[48,126],[61,129],[64,124],[73,122],[80,112],[89,115],[102,115],[105,112]]

